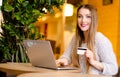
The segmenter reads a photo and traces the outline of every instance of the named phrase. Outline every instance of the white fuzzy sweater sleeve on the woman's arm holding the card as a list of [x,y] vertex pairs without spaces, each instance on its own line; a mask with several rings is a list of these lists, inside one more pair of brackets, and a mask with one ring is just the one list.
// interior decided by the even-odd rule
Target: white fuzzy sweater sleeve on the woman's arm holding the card
[[104,66],[102,74],[115,75],[118,71],[118,65],[111,42],[102,33],[97,34],[96,42],[98,48],[97,53]]

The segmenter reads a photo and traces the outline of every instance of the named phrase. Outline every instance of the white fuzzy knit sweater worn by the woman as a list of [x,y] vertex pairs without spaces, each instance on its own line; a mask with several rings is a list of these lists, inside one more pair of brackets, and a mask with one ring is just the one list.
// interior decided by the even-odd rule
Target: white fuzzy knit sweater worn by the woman
[[[73,37],[69,47],[64,52],[64,54],[61,56],[68,59],[69,63],[71,62],[71,50],[73,48],[75,42],[75,38]],[[82,44],[82,46],[86,46],[85,44]],[[79,55],[80,56],[80,55]],[[98,74],[98,75],[115,75],[118,71],[118,65],[116,61],[116,56],[114,54],[112,44],[109,41],[107,37],[105,37],[102,33],[97,32],[95,37],[95,56],[96,60],[103,63],[104,69],[103,71],[99,71],[96,68],[92,68],[91,73],[92,74]],[[79,64],[81,67],[81,73],[86,73],[86,58],[82,56],[82,58],[79,57]]]

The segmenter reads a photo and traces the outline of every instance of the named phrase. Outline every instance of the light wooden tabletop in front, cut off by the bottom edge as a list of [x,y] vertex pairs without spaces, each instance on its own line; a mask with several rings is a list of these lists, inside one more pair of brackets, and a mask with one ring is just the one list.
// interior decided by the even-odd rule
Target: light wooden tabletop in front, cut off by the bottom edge
[[18,75],[17,77],[107,77],[107,76],[88,75],[80,73],[52,72],[52,73],[26,73]]

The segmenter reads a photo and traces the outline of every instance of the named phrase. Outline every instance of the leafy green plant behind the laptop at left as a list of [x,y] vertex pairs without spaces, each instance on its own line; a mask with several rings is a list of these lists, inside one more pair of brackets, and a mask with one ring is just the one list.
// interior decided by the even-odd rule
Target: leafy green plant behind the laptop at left
[[34,22],[46,12],[54,14],[64,0],[3,0],[4,22],[0,32],[0,62],[29,62],[23,47],[24,39],[43,39]]

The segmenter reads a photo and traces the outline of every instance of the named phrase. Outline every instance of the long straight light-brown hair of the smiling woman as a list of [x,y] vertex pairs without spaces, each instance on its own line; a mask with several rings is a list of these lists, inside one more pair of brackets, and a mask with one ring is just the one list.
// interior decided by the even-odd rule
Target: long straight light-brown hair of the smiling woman
[[[97,12],[96,12],[96,9],[92,5],[84,4],[84,5],[81,5],[77,9],[77,17],[78,17],[78,12],[81,8],[88,9],[91,12],[91,25],[88,30],[88,39],[87,39],[86,43],[87,43],[87,48],[89,48],[91,51],[94,52],[95,34],[96,34],[97,23],[98,23]],[[81,29],[79,28],[78,23],[77,23],[75,45],[74,45],[73,51],[72,51],[72,64],[76,67],[80,67],[79,56],[77,55],[77,47],[80,47],[84,40],[85,40],[85,37],[84,37],[83,31],[81,31]],[[88,62],[87,62],[87,66],[88,66],[87,70],[89,70],[90,64]]]

